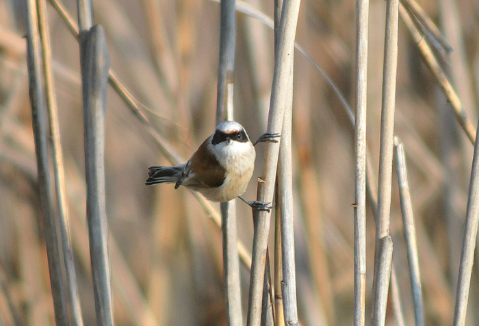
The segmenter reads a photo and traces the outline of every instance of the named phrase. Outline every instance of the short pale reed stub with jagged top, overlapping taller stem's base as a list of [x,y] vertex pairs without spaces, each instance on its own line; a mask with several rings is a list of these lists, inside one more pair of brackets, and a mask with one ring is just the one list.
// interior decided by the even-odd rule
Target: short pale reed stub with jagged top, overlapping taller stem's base
[[[385,325],[387,292],[391,279],[391,264],[393,261],[393,240],[384,236],[376,241],[376,258],[374,260],[374,298],[371,325]],[[376,267],[377,266],[377,267]]]

